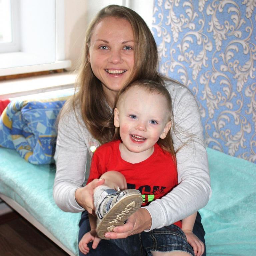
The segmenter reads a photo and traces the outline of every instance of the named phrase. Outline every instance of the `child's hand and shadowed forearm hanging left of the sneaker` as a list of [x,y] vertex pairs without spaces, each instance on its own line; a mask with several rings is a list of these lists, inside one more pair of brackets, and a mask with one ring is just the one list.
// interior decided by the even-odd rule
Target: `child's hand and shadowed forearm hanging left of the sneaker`
[[99,238],[97,236],[96,233],[96,220],[97,217],[93,216],[92,214],[88,214],[89,216],[89,222],[90,222],[90,226],[91,226],[91,231],[87,232],[84,234],[84,236],[82,237],[82,239],[79,242],[79,249],[83,254],[87,254],[89,253],[89,247],[88,247],[88,243],[90,243],[91,241],[93,241],[92,243],[92,248],[96,249],[101,238]]

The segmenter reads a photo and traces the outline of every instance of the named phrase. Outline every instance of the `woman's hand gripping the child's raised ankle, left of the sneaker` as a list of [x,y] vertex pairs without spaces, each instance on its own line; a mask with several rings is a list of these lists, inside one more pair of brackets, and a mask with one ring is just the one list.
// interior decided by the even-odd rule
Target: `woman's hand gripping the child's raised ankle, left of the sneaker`
[[92,182],[87,184],[83,188],[78,188],[75,192],[75,199],[77,203],[83,207],[88,213],[94,212],[94,203],[93,203],[93,190],[103,185],[105,182],[104,179],[94,179]]

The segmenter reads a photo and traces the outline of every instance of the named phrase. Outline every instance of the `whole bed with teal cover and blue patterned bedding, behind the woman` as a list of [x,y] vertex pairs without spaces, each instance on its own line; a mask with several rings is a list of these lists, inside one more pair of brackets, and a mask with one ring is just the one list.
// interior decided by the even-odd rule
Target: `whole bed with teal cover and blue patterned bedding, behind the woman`
[[[53,199],[56,118],[73,90],[13,100],[0,116],[0,197],[70,255],[80,213]],[[200,210],[208,256],[256,255],[256,164],[207,148],[212,197]]]

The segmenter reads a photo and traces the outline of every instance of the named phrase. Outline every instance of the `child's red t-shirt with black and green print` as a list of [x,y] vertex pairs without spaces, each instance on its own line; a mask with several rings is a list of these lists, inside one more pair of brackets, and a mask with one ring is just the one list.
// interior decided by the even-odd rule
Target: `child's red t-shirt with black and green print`
[[[153,154],[146,160],[132,164],[121,158],[120,140],[103,144],[93,154],[88,182],[99,178],[107,171],[122,173],[128,189],[138,189],[143,197],[143,206],[160,199],[178,185],[176,163],[170,153],[157,143]],[[175,222],[181,228],[181,221]]]

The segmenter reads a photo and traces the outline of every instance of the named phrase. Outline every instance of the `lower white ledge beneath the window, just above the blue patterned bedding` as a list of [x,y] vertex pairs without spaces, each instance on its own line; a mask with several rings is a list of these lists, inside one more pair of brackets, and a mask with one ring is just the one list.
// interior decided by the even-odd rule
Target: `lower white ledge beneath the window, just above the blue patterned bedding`
[[0,99],[73,88],[77,74],[64,72],[0,81]]

